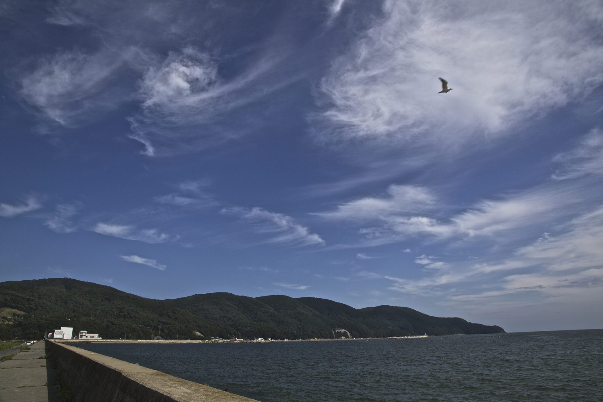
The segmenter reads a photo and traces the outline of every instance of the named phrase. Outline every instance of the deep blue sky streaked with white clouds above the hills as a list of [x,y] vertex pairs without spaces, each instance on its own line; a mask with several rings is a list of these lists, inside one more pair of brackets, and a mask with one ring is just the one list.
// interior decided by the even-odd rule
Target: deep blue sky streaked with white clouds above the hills
[[603,328],[602,33],[599,0],[5,0],[0,281]]

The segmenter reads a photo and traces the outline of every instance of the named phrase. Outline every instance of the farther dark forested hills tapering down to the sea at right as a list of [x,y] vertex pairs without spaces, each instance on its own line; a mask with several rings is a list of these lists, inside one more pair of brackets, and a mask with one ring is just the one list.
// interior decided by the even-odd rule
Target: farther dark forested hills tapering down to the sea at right
[[432,317],[408,307],[379,306],[356,310],[347,304],[314,297],[271,295],[251,298],[213,293],[164,300],[163,303],[207,321],[227,325],[245,338],[331,338],[335,328],[344,328],[355,338],[504,332],[497,325],[472,324],[462,318]]

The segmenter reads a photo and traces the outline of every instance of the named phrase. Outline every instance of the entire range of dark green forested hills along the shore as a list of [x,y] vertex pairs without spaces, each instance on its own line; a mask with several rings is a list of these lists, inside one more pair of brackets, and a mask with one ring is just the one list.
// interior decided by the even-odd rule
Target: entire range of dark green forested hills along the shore
[[408,307],[357,310],[320,298],[230,293],[153,300],[70,278],[2,282],[2,307],[24,314],[0,320],[0,339],[41,338],[62,326],[98,332],[104,339],[150,339],[159,334],[165,339],[332,338],[335,328],[355,338],[504,332],[497,325],[432,317]]

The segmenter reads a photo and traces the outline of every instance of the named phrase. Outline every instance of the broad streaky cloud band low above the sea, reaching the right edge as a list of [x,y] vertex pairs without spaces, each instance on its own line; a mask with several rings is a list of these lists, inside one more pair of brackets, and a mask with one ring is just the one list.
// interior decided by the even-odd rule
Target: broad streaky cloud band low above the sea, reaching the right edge
[[[555,297],[566,294],[569,288],[603,287],[603,206],[571,219],[557,231],[555,236],[545,233],[517,248],[512,257],[505,254],[491,262],[442,262],[444,267],[433,268],[446,269],[426,271],[429,275],[418,279],[387,277],[392,281],[389,288],[408,294],[438,294],[455,301],[483,301],[526,292]],[[420,256],[415,263],[431,268],[434,259]],[[486,278],[484,290],[481,283]],[[458,286],[472,289],[470,283],[474,292],[454,292]]]

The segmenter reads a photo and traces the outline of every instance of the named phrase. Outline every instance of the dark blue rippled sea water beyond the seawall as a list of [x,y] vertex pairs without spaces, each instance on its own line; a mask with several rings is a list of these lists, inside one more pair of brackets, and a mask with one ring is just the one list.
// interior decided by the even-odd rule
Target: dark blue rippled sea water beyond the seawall
[[603,401],[603,330],[77,346],[263,402]]

